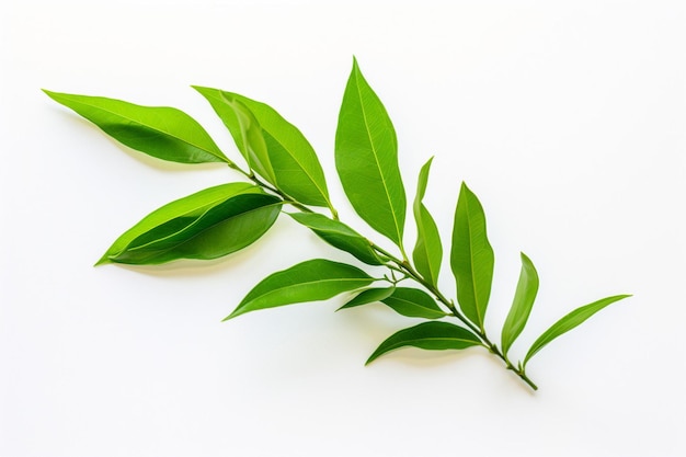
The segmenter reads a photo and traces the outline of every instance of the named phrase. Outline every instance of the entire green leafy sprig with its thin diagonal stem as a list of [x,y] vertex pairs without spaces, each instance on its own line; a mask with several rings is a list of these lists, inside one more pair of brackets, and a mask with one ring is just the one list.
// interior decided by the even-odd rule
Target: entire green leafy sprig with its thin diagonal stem
[[[484,325],[494,253],[483,207],[462,183],[449,252],[457,292],[454,300],[438,289],[443,243],[423,203],[433,158],[422,167],[418,179],[412,203],[416,239],[410,258],[404,245],[408,203],[398,167],[396,130],[356,60],[339,114],[335,168],[357,215],[390,240],[397,252],[382,249],[339,219],[315,149],[274,108],[232,92],[194,89],[228,128],[244,165],[229,159],[195,119],[176,108],[45,91],[133,149],[181,163],[225,163],[244,179],[205,188],[156,209],[117,238],[98,264],[220,258],[258,241],[279,215],[286,214],[362,264],[385,267],[387,273],[375,277],[362,265],[325,259],[301,262],[261,281],[225,320],[254,310],[351,294],[340,309],[382,302],[399,315],[423,320],[381,342],[367,364],[407,346],[481,346],[534,390],[537,386],[526,374],[534,355],[601,309],[629,297],[606,297],[571,311],[545,331],[522,361],[514,363],[510,349],[526,325],[539,287],[534,263],[522,253],[522,271],[499,346]],[[317,208],[327,208],[328,214]]]

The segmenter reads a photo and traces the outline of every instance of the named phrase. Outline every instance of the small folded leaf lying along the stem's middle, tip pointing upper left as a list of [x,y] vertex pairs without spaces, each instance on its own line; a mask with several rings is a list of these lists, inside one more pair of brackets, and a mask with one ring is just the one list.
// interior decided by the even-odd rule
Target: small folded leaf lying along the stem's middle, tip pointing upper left
[[329,244],[345,251],[369,265],[382,265],[384,261],[371,249],[371,243],[355,230],[317,213],[289,213],[297,222],[311,229]]

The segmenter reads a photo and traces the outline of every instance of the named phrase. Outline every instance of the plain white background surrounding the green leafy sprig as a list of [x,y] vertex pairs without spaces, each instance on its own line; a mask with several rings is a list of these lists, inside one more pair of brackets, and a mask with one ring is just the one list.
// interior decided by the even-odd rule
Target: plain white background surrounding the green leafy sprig
[[[0,10],[1,456],[686,455],[683,2]],[[376,305],[334,313],[342,297],[221,323],[268,273],[348,261],[286,219],[220,262],[91,266],[148,212],[237,176],[127,150],[41,88],[183,108],[233,158],[190,84],[265,101],[318,150],[343,218],[380,239],[346,206],[332,160],[353,55],[398,130],[409,199],[431,156],[426,204],[446,240],[459,183],[481,198],[491,333],[519,251],[537,265],[513,354],[572,308],[633,294],[531,361],[538,392],[479,350],[364,367],[410,322]],[[447,263],[441,286],[454,293]]]

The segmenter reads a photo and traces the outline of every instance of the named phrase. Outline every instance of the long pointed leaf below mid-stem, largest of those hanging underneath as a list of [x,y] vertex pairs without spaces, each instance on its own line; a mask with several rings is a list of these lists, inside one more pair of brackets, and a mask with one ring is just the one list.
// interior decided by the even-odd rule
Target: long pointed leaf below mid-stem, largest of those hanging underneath
[[323,259],[299,263],[262,279],[225,320],[249,311],[325,300],[375,279],[362,270]]

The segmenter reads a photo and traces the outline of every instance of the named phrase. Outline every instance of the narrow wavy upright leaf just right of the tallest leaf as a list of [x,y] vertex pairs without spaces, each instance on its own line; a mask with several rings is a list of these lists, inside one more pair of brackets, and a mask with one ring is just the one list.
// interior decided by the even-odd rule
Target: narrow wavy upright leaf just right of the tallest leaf
[[432,160],[433,158],[428,159],[422,167],[416,184],[416,196],[412,207],[414,220],[416,221],[416,244],[412,252],[412,259],[414,260],[416,271],[422,277],[435,286],[438,282],[438,272],[441,270],[441,261],[443,260],[443,247],[441,245],[441,236],[438,235],[436,222],[422,203],[426,192]]

